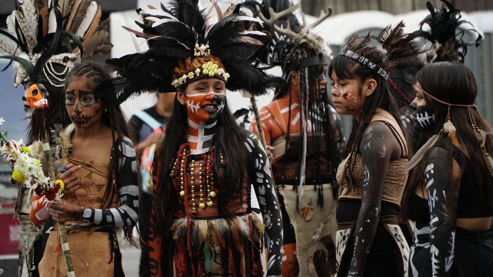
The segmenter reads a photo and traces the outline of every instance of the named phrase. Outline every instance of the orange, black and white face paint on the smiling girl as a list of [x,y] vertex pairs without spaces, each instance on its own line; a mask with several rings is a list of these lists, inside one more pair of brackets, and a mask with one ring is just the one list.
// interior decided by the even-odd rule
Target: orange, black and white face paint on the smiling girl
[[211,123],[224,109],[226,96],[224,94],[187,94],[185,106],[188,119],[195,123]]

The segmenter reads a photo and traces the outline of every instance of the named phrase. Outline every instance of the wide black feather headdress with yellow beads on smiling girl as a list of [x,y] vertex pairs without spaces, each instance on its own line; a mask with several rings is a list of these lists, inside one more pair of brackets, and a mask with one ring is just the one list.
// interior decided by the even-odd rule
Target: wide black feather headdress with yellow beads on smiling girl
[[[258,49],[270,39],[268,33],[252,31],[258,19],[220,12],[216,1],[201,10],[196,0],[172,0],[171,9],[149,6],[138,9],[142,31],[129,32],[147,39],[149,50],[107,60],[120,77],[109,87],[116,88],[113,102],[121,103],[130,95],[146,91],[174,92],[203,77],[222,78],[232,91],[246,90],[264,94],[269,88],[284,85],[282,78],[269,76],[253,65]],[[211,23],[212,14],[219,21]]]

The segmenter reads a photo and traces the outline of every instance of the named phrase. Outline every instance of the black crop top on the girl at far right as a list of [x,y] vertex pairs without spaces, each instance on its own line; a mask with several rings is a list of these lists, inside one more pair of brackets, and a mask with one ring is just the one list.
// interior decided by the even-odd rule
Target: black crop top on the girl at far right
[[[457,218],[493,216],[493,207],[489,207],[487,203],[480,203],[478,201],[481,199],[479,197],[480,183],[474,172],[471,160],[455,145],[452,155],[462,170],[457,204]],[[414,194],[406,214],[411,220],[429,221],[430,211],[428,201]]]

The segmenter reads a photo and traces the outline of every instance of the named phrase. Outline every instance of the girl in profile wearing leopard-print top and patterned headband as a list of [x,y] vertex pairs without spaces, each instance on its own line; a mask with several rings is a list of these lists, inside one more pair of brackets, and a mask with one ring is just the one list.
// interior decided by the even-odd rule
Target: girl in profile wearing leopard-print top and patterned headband
[[418,54],[416,35],[403,27],[385,28],[377,46],[369,34],[351,36],[329,65],[336,110],[354,118],[337,171],[338,276],[407,276],[409,246],[397,217],[411,151],[386,85],[395,63]]

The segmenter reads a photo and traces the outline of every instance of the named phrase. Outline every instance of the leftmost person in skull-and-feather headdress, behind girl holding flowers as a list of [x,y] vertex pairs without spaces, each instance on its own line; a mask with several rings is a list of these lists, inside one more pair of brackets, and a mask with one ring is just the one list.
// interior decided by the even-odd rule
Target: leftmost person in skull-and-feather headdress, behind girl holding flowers
[[[25,87],[22,99],[26,118],[32,119],[33,114],[27,103],[28,92],[42,87],[49,94],[47,116],[61,130],[70,122],[63,106],[65,77],[81,61],[109,53],[112,47],[106,43],[109,21],[100,22],[101,8],[96,1],[16,0],[15,5],[16,10],[7,17],[8,32],[0,30],[3,35],[0,48],[9,55],[1,58],[13,61],[14,86]],[[33,135],[29,132],[30,142],[34,140]],[[37,276],[42,255],[41,231],[29,221],[30,185],[18,186],[15,213],[21,221],[19,276],[24,266],[30,276]]]

